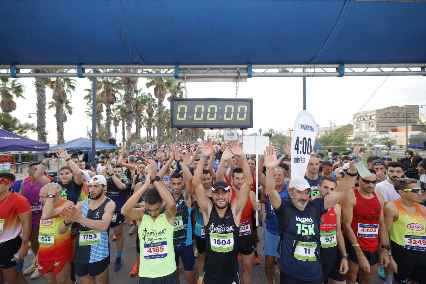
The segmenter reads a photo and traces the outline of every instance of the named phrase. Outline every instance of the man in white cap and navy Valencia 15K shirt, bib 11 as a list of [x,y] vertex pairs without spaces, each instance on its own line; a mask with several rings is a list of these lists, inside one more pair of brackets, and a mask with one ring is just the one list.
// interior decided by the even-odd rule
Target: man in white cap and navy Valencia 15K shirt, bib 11
[[[354,152],[359,152],[355,147]],[[279,217],[280,283],[322,283],[320,264],[320,216],[348,194],[357,169],[351,161],[345,177],[329,195],[309,200],[311,187],[302,177],[292,177],[288,186],[290,198],[280,198],[275,190],[273,169],[279,164],[273,144],[265,153],[266,191]]]

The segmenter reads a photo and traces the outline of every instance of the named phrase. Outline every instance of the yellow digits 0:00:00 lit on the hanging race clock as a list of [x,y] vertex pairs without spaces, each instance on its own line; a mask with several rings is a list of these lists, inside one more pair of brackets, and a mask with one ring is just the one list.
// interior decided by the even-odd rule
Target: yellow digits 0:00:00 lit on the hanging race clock
[[[235,120],[234,119],[234,110],[236,109],[236,106],[234,105],[225,105],[225,109],[224,109],[224,115],[222,116],[217,116],[217,110],[222,109],[221,107],[218,107],[217,105],[209,105],[207,106],[207,114],[204,113],[206,106],[204,105],[196,105],[195,106],[195,110],[194,110],[194,115],[189,116],[189,118],[194,121],[197,120],[211,120],[211,121],[216,121],[218,119],[223,119],[223,120]],[[237,113],[236,113],[236,120],[246,120],[247,118],[247,109],[248,106],[247,105],[238,105],[237,106]],[[187,110],[188,110],[188,106],[187,105],[179,105],[178,109],[177,109],[177,113],[176,113],[176,120],[187,120]],[[207,117],[204,118],[204,115],[206,115]]]

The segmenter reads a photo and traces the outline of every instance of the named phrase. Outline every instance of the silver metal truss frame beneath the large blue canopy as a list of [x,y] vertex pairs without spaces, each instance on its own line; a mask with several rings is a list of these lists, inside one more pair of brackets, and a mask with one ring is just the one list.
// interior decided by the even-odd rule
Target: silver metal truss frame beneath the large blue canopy
[[[42,72],[40,72],[43,70]],[[426,76],[426,63],[275,65],[0,64],[0,77],[349,77]]]

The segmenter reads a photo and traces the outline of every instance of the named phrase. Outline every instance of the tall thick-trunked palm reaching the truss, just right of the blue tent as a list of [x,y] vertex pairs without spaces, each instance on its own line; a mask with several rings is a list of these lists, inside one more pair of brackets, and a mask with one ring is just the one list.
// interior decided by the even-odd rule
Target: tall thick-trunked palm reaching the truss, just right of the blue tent
[[[136,69],[123,69],[124,73],[136,73]],[[124,106],[126,107],[126,146],[130,149],[130,139],[132,135],[132,121],[133,121],[133,97],[134,90],[136,89],[138,83],[138,77],[121,77],[121,83],[124,85]],[[124,141],[123,141],[124,143]]]

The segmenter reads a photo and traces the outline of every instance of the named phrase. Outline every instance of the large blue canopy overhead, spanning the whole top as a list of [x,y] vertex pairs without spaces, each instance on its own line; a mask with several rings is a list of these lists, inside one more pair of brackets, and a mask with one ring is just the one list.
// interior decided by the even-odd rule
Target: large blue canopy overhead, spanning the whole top
[[426,2],[3,0],[0,64],[421,63]]

